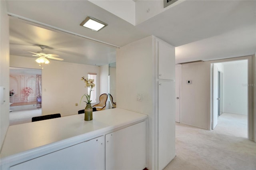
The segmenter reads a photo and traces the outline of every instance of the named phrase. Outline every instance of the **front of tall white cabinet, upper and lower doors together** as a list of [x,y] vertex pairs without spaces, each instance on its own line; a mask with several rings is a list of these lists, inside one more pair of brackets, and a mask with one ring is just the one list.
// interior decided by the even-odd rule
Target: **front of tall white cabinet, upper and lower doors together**
[[158,169],[175,156],[175,48],[159,39],[156,44],[158,87]]

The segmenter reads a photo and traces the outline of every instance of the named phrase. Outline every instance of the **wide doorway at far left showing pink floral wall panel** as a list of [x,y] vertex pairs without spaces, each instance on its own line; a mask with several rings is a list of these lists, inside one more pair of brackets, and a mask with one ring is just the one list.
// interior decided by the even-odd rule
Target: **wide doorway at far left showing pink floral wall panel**
[[41,99],[42,70],[10,67],[10,125],[42,115]]

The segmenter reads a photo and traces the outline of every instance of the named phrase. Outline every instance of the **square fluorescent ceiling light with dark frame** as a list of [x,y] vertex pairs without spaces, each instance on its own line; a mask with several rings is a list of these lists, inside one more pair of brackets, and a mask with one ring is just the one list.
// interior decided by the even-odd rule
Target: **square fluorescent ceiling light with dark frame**
[[94,31],[100,31],[102,28],[106,27],[108,24],[92,18],[90,16],[86,17],[86,19],[80,24],[80,26],[84,26]]

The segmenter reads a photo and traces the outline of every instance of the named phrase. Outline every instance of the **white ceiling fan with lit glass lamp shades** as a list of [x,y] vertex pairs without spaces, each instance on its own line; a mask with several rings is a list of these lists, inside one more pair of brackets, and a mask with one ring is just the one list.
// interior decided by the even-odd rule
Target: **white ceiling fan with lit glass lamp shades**
[[34,53],[32,51],[27,51],[27,50],[24,50],[24,51],[27,51],[27,52],[30,52],[30,53],[33,53],[33,54],[24,54],[24,55],[32,55],[32,56],[37,56],[39,57],[38,59],[36,59],[36,62],[38,63],[50,63],[50,61],[46,58],[50,58],[50,59],[56,59],[56,60],[59,60],[59,61],[63,61],[64,59],[62,58],[57,58],[57,57],[60,57],[59,55],[57,54],[46,54],[44,52],[44,49],[46,48],[45,45],[39,45],[42,49],[42,51],[38,51],[37,53]]

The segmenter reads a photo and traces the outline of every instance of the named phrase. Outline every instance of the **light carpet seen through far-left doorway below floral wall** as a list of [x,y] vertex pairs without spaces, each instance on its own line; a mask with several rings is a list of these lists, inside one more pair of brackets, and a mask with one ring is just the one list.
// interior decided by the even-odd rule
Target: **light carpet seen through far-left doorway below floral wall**
[[29,123],[32,120],[32,117],[41,116],[41,109],[29,109],[24,111],[12,111],[10,112],[10,126],[18,125],[22,123]]

